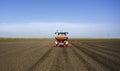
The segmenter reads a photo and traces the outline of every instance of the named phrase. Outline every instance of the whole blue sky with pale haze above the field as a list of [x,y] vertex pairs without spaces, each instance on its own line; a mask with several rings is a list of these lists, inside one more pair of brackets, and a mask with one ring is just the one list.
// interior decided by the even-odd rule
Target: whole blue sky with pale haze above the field
[[0,37],[120,38],[120,0],[0,0]]

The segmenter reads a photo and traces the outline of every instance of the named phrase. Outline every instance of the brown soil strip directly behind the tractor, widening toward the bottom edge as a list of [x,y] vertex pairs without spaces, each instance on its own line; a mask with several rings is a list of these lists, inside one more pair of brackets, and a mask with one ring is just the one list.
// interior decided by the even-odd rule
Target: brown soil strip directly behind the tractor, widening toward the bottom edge
[[49,71],[74,71],[67,51],[69,48],[60,47],[55,49],[57,50],[56,55]]

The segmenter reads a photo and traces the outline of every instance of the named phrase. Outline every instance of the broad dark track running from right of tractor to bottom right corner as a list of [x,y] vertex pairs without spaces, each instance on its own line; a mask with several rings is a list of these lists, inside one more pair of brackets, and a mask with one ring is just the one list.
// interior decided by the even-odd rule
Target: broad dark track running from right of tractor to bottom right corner
[[100,54],[97,54],[96,52],[90,51],[86,47],[76,46],[76,48],[83,51],[88,56],[92,57],[95,61],[97,61],[101,65],[103,65],[103,67],[106,67],[107,69],[109,69],[109,71],[119,71],[120,70],[119,63],[111,61],[110,59],[108,59]]

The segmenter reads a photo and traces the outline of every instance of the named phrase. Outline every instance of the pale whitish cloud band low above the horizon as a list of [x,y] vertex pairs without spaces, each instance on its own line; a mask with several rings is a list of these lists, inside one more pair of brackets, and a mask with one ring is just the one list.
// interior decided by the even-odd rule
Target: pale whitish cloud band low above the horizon
[[67,31],[69,37],[120,37],[118,24],[96,23],[4,23],[0,24],[0,37],[54,37],[54,32]]

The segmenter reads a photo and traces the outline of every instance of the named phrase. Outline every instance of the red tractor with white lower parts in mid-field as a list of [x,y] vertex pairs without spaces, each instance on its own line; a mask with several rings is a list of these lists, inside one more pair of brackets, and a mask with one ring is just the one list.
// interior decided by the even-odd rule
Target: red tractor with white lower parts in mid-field
[[55,32],[55,34],[56,34],[55,46],[68,47],[68,37],[67,37],[68,32]]

